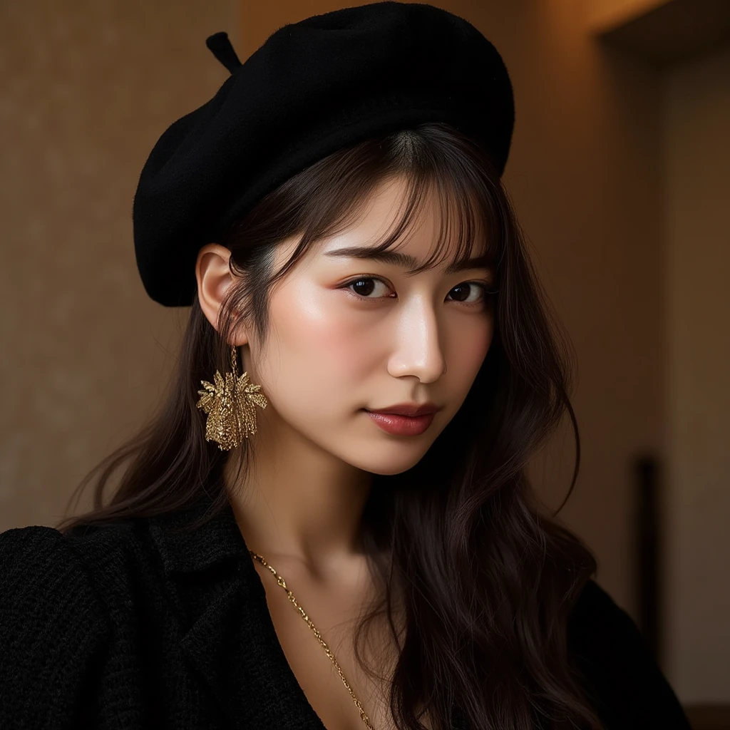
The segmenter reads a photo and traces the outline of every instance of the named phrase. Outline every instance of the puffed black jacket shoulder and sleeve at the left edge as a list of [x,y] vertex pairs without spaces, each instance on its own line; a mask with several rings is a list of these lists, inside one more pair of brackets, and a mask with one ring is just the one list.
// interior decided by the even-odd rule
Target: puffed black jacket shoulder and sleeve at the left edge
[[0,727],[70,727],[109,635],[107,612],[69,539],[0,533]]

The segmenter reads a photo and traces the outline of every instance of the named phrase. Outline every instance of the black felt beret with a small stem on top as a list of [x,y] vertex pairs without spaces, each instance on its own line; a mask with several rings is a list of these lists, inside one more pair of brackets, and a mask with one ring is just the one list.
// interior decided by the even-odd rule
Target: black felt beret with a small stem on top
[[389,1],[315,15],[279,28],[244,64],[225,33],[207,45],[231,75],[162,134],[134,196],[137,266],[160,304],[193,302],[201,246],[266,193],[367,137],[450,123],[504,172],[510,77],[491,42],[450,12]]

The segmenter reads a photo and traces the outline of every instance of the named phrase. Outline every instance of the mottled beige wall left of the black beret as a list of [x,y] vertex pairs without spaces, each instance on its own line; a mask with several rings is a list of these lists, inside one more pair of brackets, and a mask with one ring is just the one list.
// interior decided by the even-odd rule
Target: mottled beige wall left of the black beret
[[239,27],[237,0],[0,4],[0,529],[55,523],[157,403],[187,310],[147,299],[132,198]]

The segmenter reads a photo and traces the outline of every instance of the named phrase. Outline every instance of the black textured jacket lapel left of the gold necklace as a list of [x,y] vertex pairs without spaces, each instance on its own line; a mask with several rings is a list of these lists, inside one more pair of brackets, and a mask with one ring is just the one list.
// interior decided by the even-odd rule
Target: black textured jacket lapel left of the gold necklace
[[183,656],[226,727],[326,730],[288,664],[231,505],[196,529],[171,531],[208,514],[211,504],[206,498],[147,520],[180,616]]

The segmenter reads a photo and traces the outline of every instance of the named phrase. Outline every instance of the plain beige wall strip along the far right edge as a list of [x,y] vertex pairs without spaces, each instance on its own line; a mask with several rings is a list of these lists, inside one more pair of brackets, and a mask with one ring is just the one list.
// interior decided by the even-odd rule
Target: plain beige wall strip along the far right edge
[[677,690],[730,699],[730,46],[664,80],[666,629]]

